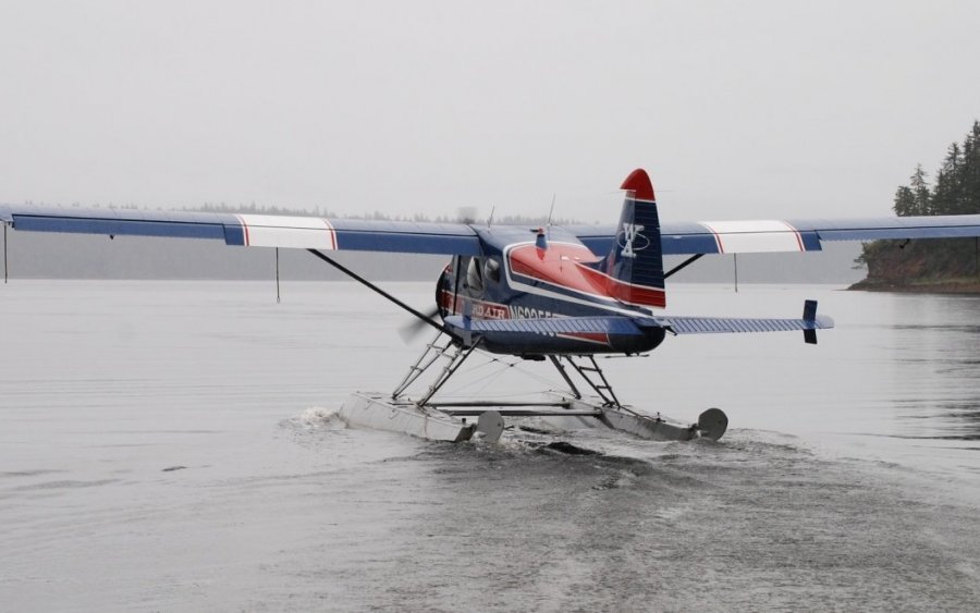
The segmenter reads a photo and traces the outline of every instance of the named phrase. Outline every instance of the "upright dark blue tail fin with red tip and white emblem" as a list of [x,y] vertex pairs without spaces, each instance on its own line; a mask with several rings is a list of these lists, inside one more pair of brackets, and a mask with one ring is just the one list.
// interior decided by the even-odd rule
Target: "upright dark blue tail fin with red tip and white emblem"
[[609,275],[607,290],[621,302],[662,308],[666,306],[666,294],[653,185],[645,170],[636,169],[620,188],[626,191],[626,199],[616,225],[616,238],[600,262],[601,270]]

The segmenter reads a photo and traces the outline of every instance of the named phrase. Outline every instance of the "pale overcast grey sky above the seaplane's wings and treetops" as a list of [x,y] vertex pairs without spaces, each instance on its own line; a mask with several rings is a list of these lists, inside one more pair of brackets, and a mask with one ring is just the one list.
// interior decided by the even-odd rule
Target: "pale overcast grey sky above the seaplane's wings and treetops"
[[[0,201],[886,214],[980,119],[980,2],[0,0]],[[609,209],[609,210],[608,210]]]

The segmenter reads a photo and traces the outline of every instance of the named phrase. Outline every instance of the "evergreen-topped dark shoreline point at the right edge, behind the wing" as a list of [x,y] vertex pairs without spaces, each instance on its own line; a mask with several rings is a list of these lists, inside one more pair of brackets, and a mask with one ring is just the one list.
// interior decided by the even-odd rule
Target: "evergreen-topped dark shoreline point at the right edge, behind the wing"
[[[916,165],[908,185],[895,192],[893,209],[899,217],[980,213],[980,121],[963,143],[953,143],[935,172]],[[863,246],[858,263],[868,267],[863,287],[977,285],[980,244],[975,238],[875,241]]]

